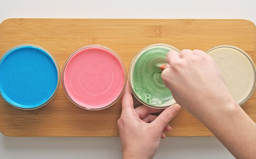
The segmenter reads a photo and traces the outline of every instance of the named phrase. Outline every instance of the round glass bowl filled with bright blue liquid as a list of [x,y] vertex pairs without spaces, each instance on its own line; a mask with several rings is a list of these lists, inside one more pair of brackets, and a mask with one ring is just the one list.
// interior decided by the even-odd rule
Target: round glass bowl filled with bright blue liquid
[[53,59],[37,47],[18,47],[0,62],[0,91],[11,105],[36,108],[49,100],[57,84]]

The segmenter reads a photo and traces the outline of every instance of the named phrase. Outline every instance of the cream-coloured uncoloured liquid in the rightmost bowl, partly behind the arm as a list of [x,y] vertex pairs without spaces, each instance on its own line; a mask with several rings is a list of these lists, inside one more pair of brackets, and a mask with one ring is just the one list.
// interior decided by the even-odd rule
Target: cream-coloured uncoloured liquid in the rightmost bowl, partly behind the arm
[[225,79],[227,89],[240,103],[250,93],[254,74],[249,60],[240,51],[232,48],[218,48],[208,53],[217,63]]

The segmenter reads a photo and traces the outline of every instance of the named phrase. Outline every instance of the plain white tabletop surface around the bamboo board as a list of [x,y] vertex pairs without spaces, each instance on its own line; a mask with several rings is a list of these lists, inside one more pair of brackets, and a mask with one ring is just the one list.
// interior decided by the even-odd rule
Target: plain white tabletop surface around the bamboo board
[[[256,1],[0,0],[0,22],[7,18],[248,19],[256,24]],[[121,158],[119,137],[7,137],[0,133],[0,159],[92,158]],[[155,159],[232,158],[215,137],[167,137],[155,156]]]

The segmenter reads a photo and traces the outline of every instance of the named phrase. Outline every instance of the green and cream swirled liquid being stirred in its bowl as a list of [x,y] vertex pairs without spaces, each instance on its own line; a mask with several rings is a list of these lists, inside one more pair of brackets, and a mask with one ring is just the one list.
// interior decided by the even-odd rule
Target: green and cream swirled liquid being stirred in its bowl
[[172,49],[153,47],[142,53],[132,69],[132,88],[145,103],[164,107],[175,103],[172,93],[163,84],[162,70],[158,67],[166,63],[166,54]]

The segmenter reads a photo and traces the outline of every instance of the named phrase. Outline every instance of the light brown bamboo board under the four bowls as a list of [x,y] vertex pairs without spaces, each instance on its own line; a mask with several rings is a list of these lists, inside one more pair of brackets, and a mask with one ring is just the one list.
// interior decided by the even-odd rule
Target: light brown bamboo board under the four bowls
[[[256,61],[256,27],[242,19],[7,19],[0,24],[0,55],[19,44],[35,44],[56,58],[60,70],[73,51],[89,44],[114,50],[128,70],[133,56],[153,43],[203,51],[229,44]],[[256,121],[256,94],[242,108]],[[120,114],[121,100],[104,110],[84,110],[60,85],[53,100],[35,110],[19,110],[1,99],[0,131],[8,136],[118,136]],[[170,125],[173,131],[166,136],[212,136],[184,109]]]

